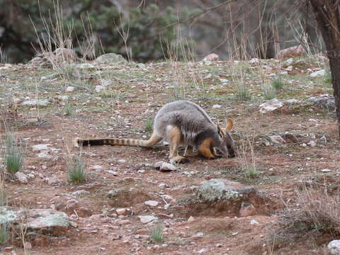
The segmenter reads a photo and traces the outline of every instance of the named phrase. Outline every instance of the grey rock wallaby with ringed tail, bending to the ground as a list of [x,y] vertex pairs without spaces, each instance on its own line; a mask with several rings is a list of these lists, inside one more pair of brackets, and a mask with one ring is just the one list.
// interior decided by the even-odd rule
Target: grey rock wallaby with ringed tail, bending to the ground
[[174,101],[166,103],[159,109],[154,118],[154,130],[149,140],[118,139],[118,138],[75,138],[74,146],[79,145],[123,145],[151,147],[161,140],[170,143],[171,162],[183,163],[185,157],[179,156],[179,146],[185,145],[184,156],[202,154],[208,159],[218,156],[235,157],[234,141],[229,135],[232,120],[227,126],[212,123],[203,108],[190,101]]

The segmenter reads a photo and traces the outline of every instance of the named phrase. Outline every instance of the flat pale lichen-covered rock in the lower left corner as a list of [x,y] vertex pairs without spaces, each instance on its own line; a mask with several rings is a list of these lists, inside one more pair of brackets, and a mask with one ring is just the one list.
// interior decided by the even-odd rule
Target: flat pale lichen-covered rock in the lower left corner
[[0,224],[18,225],[21,222],[30,231],[44,231],[55,236],[64,234],[69,227],[69,217],[64,212],[51,209],[21,210],[0,207]]

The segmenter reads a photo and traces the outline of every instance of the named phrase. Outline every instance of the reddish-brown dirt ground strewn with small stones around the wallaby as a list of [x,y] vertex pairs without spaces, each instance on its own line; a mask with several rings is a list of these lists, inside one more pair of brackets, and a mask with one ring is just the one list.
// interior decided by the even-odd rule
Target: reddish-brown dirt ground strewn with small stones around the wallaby
[[[7,129],[16,133],[25,148],[23,172],[31,174],[28,184],[8,180],[4,188],[8,205],[22,208],[57,208],[77,226],[60,237],[41,235],[28,239],[28,254],[322,254],[332,237],[302,234],[296,239],[277,239],[273,225],[285,206],[294,206],[296,191],[303,186],[339,185],[339,137],[332,109],[311,106],[310,96],[332,94],[325,77],[310,77],[327,69],[317,57],[294,59],[293,69],[280,75],[280,101],[297,99],[274,113],[259,113],[264,101],[263,83],[283,72],[284,62],[155,63],[81,69],[42,69],[29,65],[0,64],[1,137]],[[266,67],[264,67],[266,66]],[[271,67],[271,68],[267,68]],[[96,92],[98,85],[105,88]],[[237,98],[237,84],[243,83],[250,99]],[[74,86],[73,92],[65,92]],[[68,96],[67,103],[65,97]],[[21,106],[28,99],[48,99],[47,106]],[[214,160],[191,157],[177,171],[160,172],[152,167],[167,162],[169,147],[154,148],[84,147],[76,149],[73,137],[132,137],[146,139],[157,110],[169,101],[194,101],[215,122],[234,120],[232,135],[239,157]],[[18,101],[16,106],[13,101]],[[218,106],[215,106],[218,105]],[[215,106],[215,107],[212,107]],[[220,108],[219,108],[220,106]],[[69,115],[65,113],[69,108]],[[38,118],[38,122],[30,120]],[[299,142],[265,145],[271,135],[295,135]],[[327,142],[319,142],[325,137]],[[251,142],[251,148],[246,141]],[[316,145],[308,144],[316,141]],[[47,144],[48,157],[38,157],[33,145]],[[243,145],[243,147],[242,147]],[[243,149],[242,149],[243,148]],[[259,171],[245,174],[242,154]],[[81,153],[86,161],[86,181],[70,183],[65,159]],[[46,155],[45,155],[46,156]],[[322,169],[329,169],[324,172]],[[47,178],[57,178],[49,184]],[[186,198],[206,179],[228,179],[254,186],[268,196],[266,210],[241,217],[232,210],[191,207]],[[163,184],[162,184],[163,183]],[[160,185],[161,184],[161,185]],[[89,193],[74,196],[86,190]],[[108,198],[108,191],[119,191]],[[171,202],[161,195],[169,195]],[[69,208],[64,205],[76,200]],[[157,200],[156,207],[145,205]],[[169,205],[166,205],[168,204]],[[164,205],[166,207],[164,208]],[[130,208],[118,217],[117,208]],[[139,215],[158,218],[144,225]],[[188,218],[193,216],[193,220]],[[258,223],[251,225],[251,220]],[[164,238],[150,239],[155,225],[162,225]],[[203,234],[198,234],[203,233]],[[11,239],[0,246],[1,254],[23,254],[22,243]]]

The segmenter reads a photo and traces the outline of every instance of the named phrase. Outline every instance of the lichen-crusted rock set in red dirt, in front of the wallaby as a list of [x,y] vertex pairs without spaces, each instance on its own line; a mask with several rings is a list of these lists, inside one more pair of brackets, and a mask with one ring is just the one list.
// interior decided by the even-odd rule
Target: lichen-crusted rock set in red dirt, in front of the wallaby
[[268,198],[251,186],[228,181],[210,179],[203,181],[188,203],[188,215],[243,216],[245,205],[252,208],[247,215],[268,212]]

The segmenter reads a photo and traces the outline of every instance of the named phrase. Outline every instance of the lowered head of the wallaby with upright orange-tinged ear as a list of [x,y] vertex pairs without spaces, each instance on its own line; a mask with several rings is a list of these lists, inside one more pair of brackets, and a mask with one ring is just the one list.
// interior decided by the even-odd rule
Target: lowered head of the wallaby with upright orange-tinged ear
[[213,147],[215,147],[217,153],[222,154],[225,157],[235,157],[234,152],[234,140],[229,134],[232,131],[233,123],[231,119],[227,120],[227,126],[222,129],[220,125],[217,124],[218,138],[213,142]]

